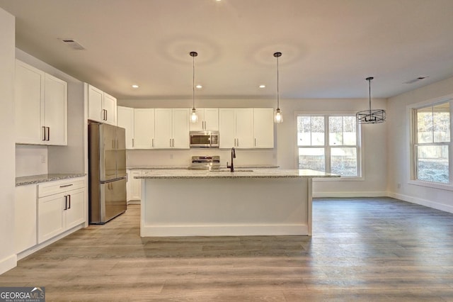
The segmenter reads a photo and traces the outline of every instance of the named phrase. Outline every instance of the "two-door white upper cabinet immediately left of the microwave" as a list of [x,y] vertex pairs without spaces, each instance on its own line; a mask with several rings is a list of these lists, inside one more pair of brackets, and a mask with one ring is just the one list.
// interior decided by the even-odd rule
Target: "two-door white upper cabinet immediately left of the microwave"
[[189,108],[154,109],[155,147],[189,148]]

